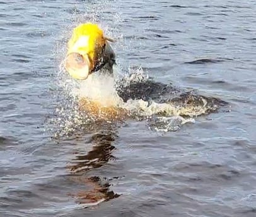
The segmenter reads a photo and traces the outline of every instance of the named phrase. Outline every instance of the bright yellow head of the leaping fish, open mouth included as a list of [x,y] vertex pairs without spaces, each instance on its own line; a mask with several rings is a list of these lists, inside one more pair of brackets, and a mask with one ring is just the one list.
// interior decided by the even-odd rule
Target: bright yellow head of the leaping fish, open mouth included
[[67,44],[64,67],[74,79],[84,80],[93,72],[106,45],[103,31],[93,23],[84,23],[73,30]]

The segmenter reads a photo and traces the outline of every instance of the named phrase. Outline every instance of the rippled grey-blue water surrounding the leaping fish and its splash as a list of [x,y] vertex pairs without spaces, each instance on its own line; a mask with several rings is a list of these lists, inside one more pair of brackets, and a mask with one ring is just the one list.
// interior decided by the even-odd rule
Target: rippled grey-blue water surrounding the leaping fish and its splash
[[[255,216],[255,11],[254,1],[0,1],[0,216]],[[117,76],[142,67],[228,106],[81,118],[59,65],[88,20],[117,38]]]

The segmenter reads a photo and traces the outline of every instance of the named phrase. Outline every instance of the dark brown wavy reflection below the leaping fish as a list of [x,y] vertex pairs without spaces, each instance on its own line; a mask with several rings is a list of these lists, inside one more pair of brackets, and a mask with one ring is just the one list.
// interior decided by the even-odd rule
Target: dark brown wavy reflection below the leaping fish
[[110,129],[105,129],[91,136],[86,145],[92,145],[92,150],[87,153],[82,151],[74,152],[74,159],[67,165],[67,169],[71,173],[71,175],[68,176],[69,179],[80,185],[84,184],[84,190],[76,194],[69,194],[76,198],[77,203],[94,205],[120,196],[109,189],[111,186],[109,181],[117,179],[117,177],[108,179],[107,177],[88,177],[88,175],[86,175],[86,172],[89,170],[102,167],[107,164],[109,160],[115,159],[112,155],[115,149],[112,143],[117,137],[117,132],[112,130],[111,126],[108,127]]

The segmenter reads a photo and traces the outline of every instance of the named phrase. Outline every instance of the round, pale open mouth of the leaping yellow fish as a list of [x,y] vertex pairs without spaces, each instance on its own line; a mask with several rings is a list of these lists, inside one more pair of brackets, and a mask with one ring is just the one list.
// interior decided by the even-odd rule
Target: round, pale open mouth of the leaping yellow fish
[[72,52],[66,56],[64,67],[71,77],[78,80],[87,79],[91,73],[91,63],[88,55],[78,52]]

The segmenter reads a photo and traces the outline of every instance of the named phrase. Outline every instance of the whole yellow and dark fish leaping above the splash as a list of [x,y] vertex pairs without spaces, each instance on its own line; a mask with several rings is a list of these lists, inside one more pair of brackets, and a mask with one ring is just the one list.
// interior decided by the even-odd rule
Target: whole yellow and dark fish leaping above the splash
[[110,43],[115,42],[105,36],[103,30],[94,23],[82,23],[73,29],[67,43],[64,67],[73,79],[85,80],[98,70],[113,74],[115,52]]

